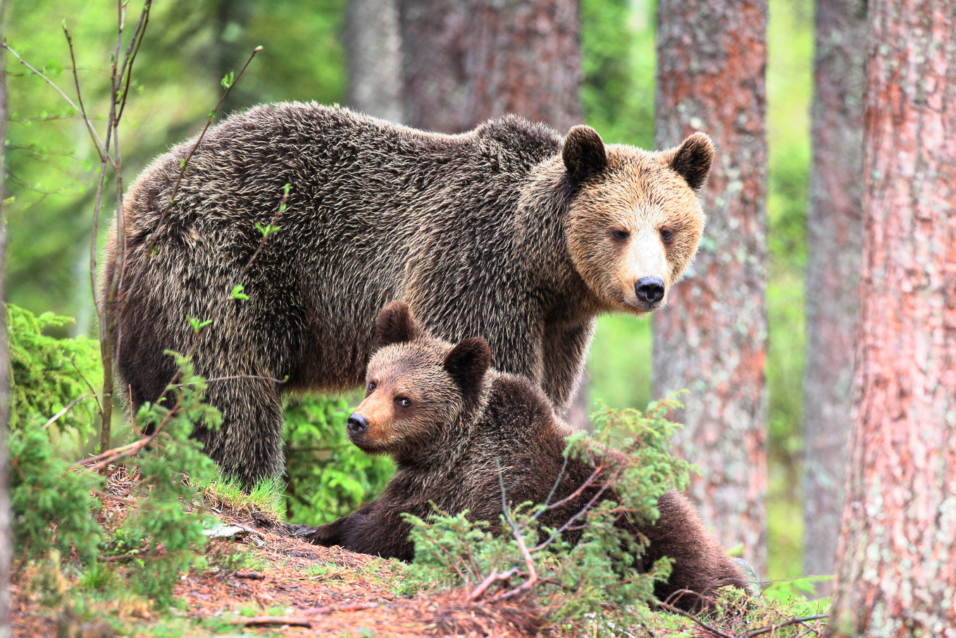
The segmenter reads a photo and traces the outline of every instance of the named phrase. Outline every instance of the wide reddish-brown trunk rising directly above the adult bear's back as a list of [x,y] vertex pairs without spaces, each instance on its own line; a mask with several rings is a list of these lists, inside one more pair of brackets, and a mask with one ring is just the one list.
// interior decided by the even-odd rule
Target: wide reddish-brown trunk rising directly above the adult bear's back
[[460,133],[505,113],[581,122],[576,0],[398,0],[406,122]]

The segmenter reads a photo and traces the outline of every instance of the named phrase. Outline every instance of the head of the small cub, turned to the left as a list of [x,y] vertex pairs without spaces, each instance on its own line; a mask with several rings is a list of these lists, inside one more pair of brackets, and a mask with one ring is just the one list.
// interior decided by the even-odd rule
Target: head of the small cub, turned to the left
[[453,346],[426,337],[402,302],[381,311],[376,338],[365,398],[346,431],[363,451],[401,458],[458,426],[480,396],[490,350],[481,339]]

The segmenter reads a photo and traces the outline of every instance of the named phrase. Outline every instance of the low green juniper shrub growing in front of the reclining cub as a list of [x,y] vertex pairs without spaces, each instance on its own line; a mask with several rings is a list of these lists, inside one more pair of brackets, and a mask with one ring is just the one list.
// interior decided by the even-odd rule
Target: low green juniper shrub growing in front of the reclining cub
[[[677,406],[670,398],[651,404],[645,414],[629,409],[597,415],[597,436],[600,431],[629,434],[621,461],[605,457],[615,464],[609,473],[619,502],[605,501],[585,513],[587,527],[574,546],[561,539],[559,530],[539,524],[545,504],[525,503],[504,512],[501,534],[491,534],[487,522],[471,521],[467,513],[438,513],[427,521],[406,516],[412,524],[415,561],[405,568],[402,592],[456,585],[474,592],[479,583],[497,575],[478,597],[508,597],[519,591],[518,583],[528,582],[531,560],[537,574],[532,592],[549,610],[546,617],[553,627],[583,622],[584,634],[610,636],[619,635],[620,625],[647,623],[654,583],[669,575],[669,561],[663,559],[645,573],[638,571],[635,559],[646,539],[634,538],[615,520],[621,511],[656,520],[658,498],[686,485],[689,465],[669,453],[670,435],[678,426],[667,421],[666,414]],[[565,453],[593,452],[593,445],[579,432],[568,437]],[[613,620],[608,608],[614,609]]]

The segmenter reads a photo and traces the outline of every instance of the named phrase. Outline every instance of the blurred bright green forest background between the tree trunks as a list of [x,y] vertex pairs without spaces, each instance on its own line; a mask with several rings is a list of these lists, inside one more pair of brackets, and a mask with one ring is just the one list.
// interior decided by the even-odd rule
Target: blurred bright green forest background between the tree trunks
[[[7,41],[61,86],[72,86],[60,28],[65,20],[74,37],[88,111],[102,113],[98,103],[105,103],[109,81],[104,43],[114,37],[115,11],[112,3],[13,0],[6,16]],[[655,146],[656,11],[653,0],[581,2],[584,121],[608,143]],[[153,157],[202,127],[222,94],[221,79],[238,71],[255,46],[264,50],[231,91],[219,119],[258,102],[345,103],[345,12],[345,0],[156,5],[121,130],[126,183]],[[771,0],[767,41],[770,485],[765,578],[783,579],[803,573],[803,273],[814,3]],[[75,324],[62,329],[64,335],[93,334],[89,233],[95,151],[83,122],[49,86],[12,60],[8,66],[8,300],[36,313],[76,317]],[[707,130],[706,121],[702,128]],[[110,201],[112,195],[105,197]],[[647,319],[600,319],[590,357],[593,404],[647,404],[651,339]]]

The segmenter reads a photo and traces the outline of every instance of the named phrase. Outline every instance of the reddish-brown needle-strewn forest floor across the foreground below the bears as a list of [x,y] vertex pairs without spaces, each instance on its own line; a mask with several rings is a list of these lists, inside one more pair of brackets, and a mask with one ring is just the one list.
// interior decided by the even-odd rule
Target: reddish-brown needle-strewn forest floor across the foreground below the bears
[[[125,494],[117,497],[118,492],[124,492],[122,486],[111,481],[112,495],[106,495],[101,521],[125,516]],[[399,563],[339,547],[313,545],[295,538],[280,521],[254,509],[235,511],[213,499],[209,510],[220,521],[210,530],[213,538],[206,545],[206,559],[213,566],[193,569],[180,577],[173,591],[175,605],[157,610],[143,599],[84,597],[76,594],[82,587],[76,587],[78,578],[71,582],[67,570],[63,572],[66,576],[56,572],[58,583],[42,583],[48,592],[72,594],[65,599],[72,602],[60,605],[65,610],[54,611],[35,591],[36,582],[49,577],[31,575],[28,570],[25,579],[31,585],[22,587],[15,580],[11,585],[13,637],[591,635],[583,625],[549,631],[556,627],[548,627],[547,610],[537,608],[532,597],[470,602],[461,589],[434,588],[400,595],[396,593],[396,585],[402,581]],[[219,536],[224,538],[215,538]],[[110,565],[119,572],[137,569],[134,561]],[[136,572],[126,576],[135,578]],[[82,607],[82,612],[74,613],[74,607]],[[676,616],[672,619],[678,621],[668,623],[673,630],[658,627],[656,631],[637,629],[638,633],[632,633],[632,629],[620,635],[736,638],[689,621],[680,622],[686,619]],[[819,631],[811,627],[801,635],[819,635]]]

